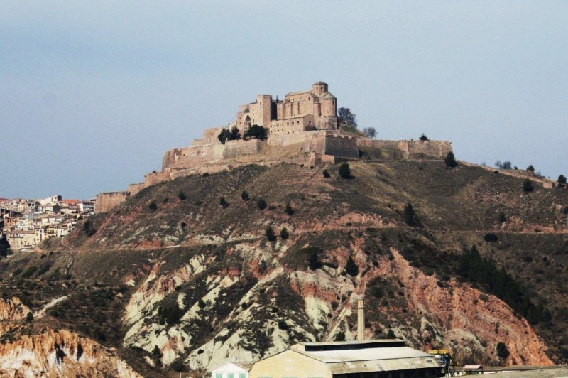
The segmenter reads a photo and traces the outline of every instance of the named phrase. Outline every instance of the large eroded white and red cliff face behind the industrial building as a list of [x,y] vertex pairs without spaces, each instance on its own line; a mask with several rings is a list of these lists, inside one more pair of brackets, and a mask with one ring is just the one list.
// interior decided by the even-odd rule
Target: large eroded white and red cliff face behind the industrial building
[[[474,358],[488,364],[552,365],[545,343],[506,303],[469,284],[442,284],[436,275],[410,266],[394,248],[373,264],[356,239],[349,248],[328,252],[337,267],[324,265],[313,271],[286,269],[285,252],[252,244],[229,249],[230,254],[243,254],[246,270],[257,274],[256,283],[246,290],[236,288],[246,279],[241,268],[226,266],[215,274],[207,271],[212,261],[203,255],[166,274],[160,275],[155,266],[126,308],[125,345],[148,352],[157,346],[164,365],[188,353],[183,360],[192,369],[212,369],[233,360],[258,360],[298,341],[335,340],[339,333],[354,340],[356,298],[372,298],[371,286],[380,279],[397,283],[398,298],[368,301],[367,338],[384,337],[391,329],[419,349],[452,350],[458,363]],[[345,274],[350,255],[368,269],[354,277]],[[274,268],[260,273],[261,261],[271,261]],[[196,281],[202,283],[199,290]],[[179,290],[184,285],[199,296],[189,301],[190,292]],[[227,299],[231,292],[238,296],[232,302]],[[168,296],[181,311],[171,324],[159,315]],[[228,309],[219,316],[224,306]],[[510,352],[505,360],[496,355],[498,342],[505,342]]]

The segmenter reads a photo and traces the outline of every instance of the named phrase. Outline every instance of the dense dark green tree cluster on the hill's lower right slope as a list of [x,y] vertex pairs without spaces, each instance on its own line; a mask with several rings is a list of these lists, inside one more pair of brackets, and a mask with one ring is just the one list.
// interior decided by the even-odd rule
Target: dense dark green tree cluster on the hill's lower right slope
[[481,257],[475,246],[459,257],[457,274],[476,282],[484,290],[505,301],[515,312],[531,324],[550,321],[550,311],[530,300],[525,288],[513,279],[504,268],[498,269],[493,261]]

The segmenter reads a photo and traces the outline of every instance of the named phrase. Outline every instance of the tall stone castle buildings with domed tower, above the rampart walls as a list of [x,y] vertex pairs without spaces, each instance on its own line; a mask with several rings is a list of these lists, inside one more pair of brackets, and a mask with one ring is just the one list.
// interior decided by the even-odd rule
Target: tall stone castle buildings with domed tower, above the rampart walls
[[258,95],[256,102],[239,107],[236,121],[230,126],[244,134],[253,124],[266,127],[271,135],[337,130],[337,99],[324,82],[316,82],[312,90],[290,92],[284,100]]

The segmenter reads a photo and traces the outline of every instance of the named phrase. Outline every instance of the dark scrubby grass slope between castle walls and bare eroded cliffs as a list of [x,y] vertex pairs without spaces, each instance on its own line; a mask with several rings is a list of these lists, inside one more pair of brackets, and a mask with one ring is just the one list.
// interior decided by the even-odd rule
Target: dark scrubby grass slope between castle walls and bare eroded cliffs
[[[414,266],[427,274],[438,274],[443,281],[454,274],[457,255],[464,248],[477,244],[484,257],[492,259],[498,266],[505,266],[510,274],[522,281],[536,303],[550,308],[552,322],[537,325],[537,331],[552,346],[551,355],[557,357],[558,347],[568,347],[567,332],[562,327],[568,320],[565,305],[568,303],[565,284],[568,246],[560,212],[568,205],[567,191],[537,187],[535,192],[525,194],[520,189],[520,179],[496,175],[481,168],[460,166],[446,170],[439,161],[351,163],[355,177],[351,180],[339,179],[337,166],[325,167],[332,173],[332,178],[325,179],[321,172],[323,168],[312,170],[290,164],[270,168],[246,166],[207,177],[179,178],[143,190],[112,212],[97,215],[92,219],[96,234],[87,237],[79,227],[65,244],[50,246],[62,252],[56,252],[55,257],[45,257],[55,259],[52,271],[56,266],[63,271],[68,260],[63,252],[75,251],[71,273],[77,281],[75,284],[84,286],[79,290],[81,295],[75,295],[74,301],[78,302],[67,304],[67,308],[82,309],[83,313],[60,317],[58,322],[82,331],[80,325],[84,323],[84,313],[89,311],[92,297],[97,299],[100,295],[97,294],[100,287],[94,285],[96,281],[107,283],[112,289],[113,298],[109,301],[117,304],[109,308],[119,313],[126,301],[114,296],[124,290],[121,282],[129,274],[148,274],[156,261],[164,262],[160,268],[163,273],[175,270],[196,254],[204,254],[209,261],[209,273],[218,273],[231,266],[239,269],[243,277],[251,279],[258,276],[255,269],[280,265],[290,271],[307,269],[306,257],[295,255],[295,251],[307,244],[322,248],[321,259],[325,263],[341,264],[342,257],[337,251],[349,249],[354,239],[358,239],[366,245],[370,261],[388,254],[388,247],[397,247]],[[241,200],[243,190],[249,193],[249,201]],[[187,196],[185,200],[178,198],[180,191]],[[219,205],[222,196],[229,202],[226,208]],[[256,200],[260,198],[269,205],[263,211],[256,206]],[[155,202],[157,210],[150,210],[151,202]],[[291,217],[284,212],[288,202],[295,210]],[[404,224],[401,213],[408,202],[417,211],[419,228]],[[506,215],[507,222],[498,220],[499,212]],[[354,217],[354,214],[368,217]],[[376,222],[378,219],[380,226]],[[280,249],[274,249],[274,259],[268,261],[268,268],[252,267],[243,254],[234,253],[234,250],[239,244],[272,250],[274,246],[264,237],[266,225],[272,225],[277,233],[281,227],[287,227],[290,239],[280,240]],[[564,234],[560,233],[563,230]],[[488,232],[496,233],[498,241],[485,242],[483,237]],[[163,249],[178,244],[185,247]],[[288,247],[288,252],[281,244]],[[8,276],[18,267],[25,269],[40,264],[39,257],[30,255],[11,259],[9,264],[0,263],[2,284],[11,285],[15,281],[23,286],[28,281],[42,282],[44,277],[41,276],[26,280]],[[55,278],[58,279],[56,286],[66,282],[61,281],[61,277]],[[250,285],[247,279],[241,279],[243,287]],[[197,277],[180,290],[198,293],[202,290],[199,280]],[[387,287],[392,284],[385,283]],[[286,282],[278,285],[282,286],[280,293],[289,293],[290,301],[295,300]],[[33,288],[28,291],[33,292]],[[124,298],[128,293],[124,293]],[[254,301],[268,306],[271,303],[269,294],[257,293]],[[33,302],[30,293],[24,298]],[[197,301],[197,298],[195,294],[190,301]],[[225,305],[234,307],[238,299],[238,296],[229,298],[231,303]],[[168,300],[171,298],[164,299]],[[211,327],[209,333],[214,334],[219,330],[215,327],[228,316],[220,308],[207,311],[204,318],[209,322],[200,328],[205,330],[191,330],[197,340],[207,340],[207,326]],[[296,323],[310,329],[308,320],[302,318],[305,315],[299,312],[263,316],[295,318]],[[113,332],[116,325],[107,321],[112,316],[106,313],[104,317],[103,332]],[[248,332],[251,339],[258,340],[258,345],[251,347],[266,347],[263,344],[268,340],[262,340],[254,327]],[[302,335],[293,335],[293,338],[301,340]],[[107,342],[114,343],[112,340],[107,338]],[[124,353],[128,358],[132,351],[125,350]]]

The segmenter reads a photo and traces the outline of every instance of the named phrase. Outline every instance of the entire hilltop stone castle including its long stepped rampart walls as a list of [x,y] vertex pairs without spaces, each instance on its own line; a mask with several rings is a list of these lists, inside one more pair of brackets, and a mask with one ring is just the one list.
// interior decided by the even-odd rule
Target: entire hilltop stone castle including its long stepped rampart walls
[[[311,90],[290,92],[283,100],[271,95],[258,95],[256,102],[239,107],[236,126],[244,131],[253,125],[268,130],[268,139],[219,141],[223,127],[205,129],[201,139],[191,146],[166,151],[162,170],[144,175],[143,183],[129,185],[125,192],[97,195],[95,212],[105,212],[124,202],[143,188],[195,173],[212,173],[235,166],[278,161],[316,166],[318,163],[356,160],[364,150],[376,158],[430,156],[443,158],[452,146],[449,141],[380,141],[359,134],[346,134],[339,129],[337,98],[328,85],[316,82]],[[255,156],[256,155],[256,156]]]

